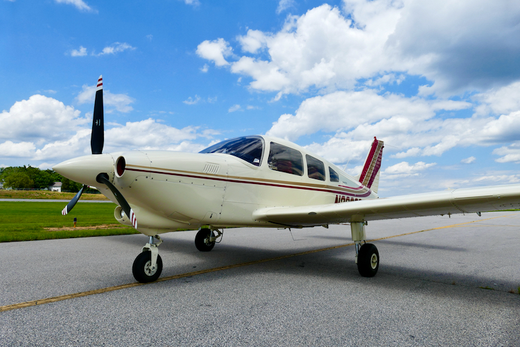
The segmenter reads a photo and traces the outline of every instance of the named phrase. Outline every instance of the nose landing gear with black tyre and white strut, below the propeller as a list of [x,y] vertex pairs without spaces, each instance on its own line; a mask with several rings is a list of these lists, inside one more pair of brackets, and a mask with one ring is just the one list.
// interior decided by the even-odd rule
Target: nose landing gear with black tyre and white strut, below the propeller
[[143,247],[142,253],[137,255],[134,260],[132,273],[137,282],[153,282],[161,276],[162,259],[157,246],[162,244],[162,239],[158,235],[155,235],[155,238],[159,240],[159,242],[154,244],[154,236],[150,236],[150,242]]

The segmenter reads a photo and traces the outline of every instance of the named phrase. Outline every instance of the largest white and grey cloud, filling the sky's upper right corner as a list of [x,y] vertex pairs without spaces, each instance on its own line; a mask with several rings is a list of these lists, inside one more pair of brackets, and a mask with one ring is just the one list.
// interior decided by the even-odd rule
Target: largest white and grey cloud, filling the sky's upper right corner
[[[422,95],[485,90],[520,78],[519,15],[520,3],[486,0],[447,0],[442,6],[419,0],[349,0],[342,9],[324,4],[288,16],[277,33],[250,29],[239,36],[244,52],[266,51],[268,56],[239,57],[230,62],[231,71],[252,78],[254,90],[280,94],[311,87],[352,89],[363,79],[368,85],[392,83],[384,77],[392,74],[432,81],[420,88]],[[224,43],[228,52],[230,48],[223,38],[217,42],[214,53],[199,56],[228,65],[220,53]]]

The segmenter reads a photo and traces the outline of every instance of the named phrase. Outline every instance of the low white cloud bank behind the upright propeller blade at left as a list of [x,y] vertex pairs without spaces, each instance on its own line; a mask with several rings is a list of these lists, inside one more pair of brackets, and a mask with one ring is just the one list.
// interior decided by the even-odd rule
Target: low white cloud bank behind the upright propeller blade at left
[[[33,95],[17,101],[0,114],[6,131],[0,132],[0,159],[28,158],[51,167],[75,156],[90,153],[92,117],[58,100]],[[122,149],[163,149],[198,152],[220,133],[198,126],[174,128],[156,119],[105,122],[104,152]],[[38,163],[36,163],[38,164]]]

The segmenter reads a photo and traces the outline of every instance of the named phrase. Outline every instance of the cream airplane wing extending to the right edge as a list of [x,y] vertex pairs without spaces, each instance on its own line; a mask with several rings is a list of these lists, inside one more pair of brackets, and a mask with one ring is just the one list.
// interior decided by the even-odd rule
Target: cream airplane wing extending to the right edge
[[253,213],[253,219],[263,223],[299,228],[350,221],[374,221],[512,208],[520,208],[520,185],[450,189],[443,192],[328,205],[261,208]]

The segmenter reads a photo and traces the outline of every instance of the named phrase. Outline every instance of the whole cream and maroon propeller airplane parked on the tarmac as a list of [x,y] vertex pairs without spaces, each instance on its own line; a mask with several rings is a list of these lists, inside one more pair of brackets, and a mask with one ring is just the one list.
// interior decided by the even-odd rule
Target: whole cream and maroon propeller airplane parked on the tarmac
[[[83,189],[96,186],[118,204],[114,217],[149,237],[132,266],[135,279],[153,282],[162,271],[159,234],[199,230],[195,245],[211,251],[227,227],[305,228],[350,223],[361,276],[375,276],[379,253],[367,244],[367,221],[520,208],[520,185],[379,198],[383,142],[374,137],[357,177],[283,139],[245,136],[200,153],[103,151],[103,78],[94,103],[92,155],[53,169],[83,183],[63,209],[67,214]],[[139,221],[139,223],[138,223]],[[155,239],[157,242],[155,243]]]

